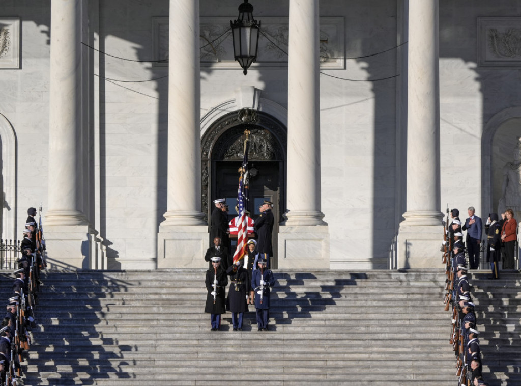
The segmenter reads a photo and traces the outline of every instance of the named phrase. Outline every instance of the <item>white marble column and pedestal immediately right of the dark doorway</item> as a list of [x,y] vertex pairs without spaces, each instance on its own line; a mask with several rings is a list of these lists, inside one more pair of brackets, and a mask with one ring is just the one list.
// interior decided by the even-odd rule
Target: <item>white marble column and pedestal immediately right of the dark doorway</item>
[[[318,4],[318,0],[289,2],[288,212],[280,227],[279,268],[291,264],[329,268],[329,234],[320,211]],[[309,256],[297,259],[297,245]]]

